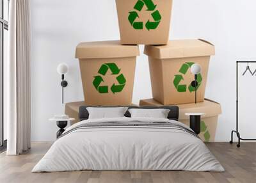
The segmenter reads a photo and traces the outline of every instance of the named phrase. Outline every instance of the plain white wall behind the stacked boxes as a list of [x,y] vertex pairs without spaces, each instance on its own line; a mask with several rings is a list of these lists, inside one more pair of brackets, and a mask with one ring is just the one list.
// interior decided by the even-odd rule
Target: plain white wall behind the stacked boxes
[[[230,131],[235,127],[236,60],[256,60],[255,6],[253,0],[174,0],[173,3],[170,39],[204,38],[216,45],[206,88],[206,97],[220,102],[223,109],[216,141],[229,141]],[[48,118],[63,113],[64,109],[56,67],[61,62],[70,66],[65,102],[83,100],[79,65],[74,58],[76,45],[81,41],[119,39],[115,1],[31,0],[31,24],[31,138],[52,141],[58,128],[48,122]],[[136,104],[140,99],[152,97],[147,58],[143,55],[143,46],[140,49],[134,83]],[[256,76],[241,79],[244,138],[255,136],[255,79]],[[244,113],[245,109],[248,113]]]

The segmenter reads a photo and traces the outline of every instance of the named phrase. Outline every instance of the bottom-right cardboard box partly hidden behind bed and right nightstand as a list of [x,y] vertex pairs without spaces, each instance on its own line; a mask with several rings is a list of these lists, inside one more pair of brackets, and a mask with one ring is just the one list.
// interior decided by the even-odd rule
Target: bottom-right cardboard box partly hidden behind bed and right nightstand
[[[140,106],[163,106],[154,99],[140,100]],[[179,104],[179,121],[189,126],[189,116],[185,113],[205,113],[201,118],[201,132],[199,137],[203,141],[214,141],[218,116],[221,114],[221,105],[209,99],[197,104]]]

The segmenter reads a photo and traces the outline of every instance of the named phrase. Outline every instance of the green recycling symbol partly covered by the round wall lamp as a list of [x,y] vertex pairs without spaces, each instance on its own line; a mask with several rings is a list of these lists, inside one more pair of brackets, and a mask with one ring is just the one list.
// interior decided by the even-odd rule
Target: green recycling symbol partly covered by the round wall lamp
[[[186,62],[184,63],[181,67],[180,67],[180,74],[176,74],[175,77],[174,77],[174,80],[173,80],[173,84],[176,88],[176,90],[178,92],[187,92],[187,85],[186,84],[180,84],[180,82],[182,80],[184,80],[183,76],[182,75],[185,75],[187,72],[188,72],[188,69],[191,68],[191,66],[193,65],[194,63],[193,62]],[[197,75],[197,83],[198,83],[198,86],[197,87],[193,87],[191,84],[189,84],[188,86],[188,90],[189,92],[195,92],[196,89],[199,88],[199,86],[201,85],[202,83],[202,75],[201,74],[198,74]]]

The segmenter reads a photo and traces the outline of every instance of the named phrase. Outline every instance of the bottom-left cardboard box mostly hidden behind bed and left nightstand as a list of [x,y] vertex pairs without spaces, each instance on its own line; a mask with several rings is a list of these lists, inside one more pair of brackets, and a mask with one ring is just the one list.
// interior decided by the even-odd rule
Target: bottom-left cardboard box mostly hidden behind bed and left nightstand
[[[71,125],[74,123],[79,122],[79,107],[80,106],[88,106],[85,104],[84,101],[77,101],[77,102],[69,102],[65,104],[65,114],[68,115],[70,118],[75,118],[76,120],[71,122]],[[130,104],[128,106],[137,106],[135,104]]]

